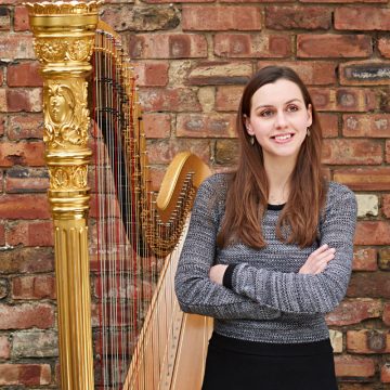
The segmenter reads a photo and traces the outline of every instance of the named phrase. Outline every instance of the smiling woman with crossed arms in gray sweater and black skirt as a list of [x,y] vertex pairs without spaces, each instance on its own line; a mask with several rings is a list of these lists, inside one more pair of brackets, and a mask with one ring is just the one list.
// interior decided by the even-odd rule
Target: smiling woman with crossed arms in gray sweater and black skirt
[[350,278],[355,197],[324,179],[291,69],[252,77],[237,131],[237,170],[199,187],[176,276],[182,310],[216,318],[203,389],[335,390],[324,316]]

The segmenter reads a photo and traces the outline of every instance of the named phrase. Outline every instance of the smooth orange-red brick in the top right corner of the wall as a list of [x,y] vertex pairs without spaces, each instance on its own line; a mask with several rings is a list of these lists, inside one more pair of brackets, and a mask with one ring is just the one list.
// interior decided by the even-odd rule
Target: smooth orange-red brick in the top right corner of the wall
[[335,28],[388,31],[390,10],[379,6],[340,6],[335,10]]

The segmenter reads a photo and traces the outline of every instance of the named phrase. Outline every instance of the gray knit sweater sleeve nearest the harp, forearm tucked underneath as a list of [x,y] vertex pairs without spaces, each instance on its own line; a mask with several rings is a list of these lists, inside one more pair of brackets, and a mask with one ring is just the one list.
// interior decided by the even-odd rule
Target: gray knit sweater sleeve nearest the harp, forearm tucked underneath
[[214,177],[198,188],[176,274],[179,304],[184,312],[216,318],[276,318],[281,315],[278,310],[265,308],[209,278],[214,264],[221,190],[223,186],[216,183]]

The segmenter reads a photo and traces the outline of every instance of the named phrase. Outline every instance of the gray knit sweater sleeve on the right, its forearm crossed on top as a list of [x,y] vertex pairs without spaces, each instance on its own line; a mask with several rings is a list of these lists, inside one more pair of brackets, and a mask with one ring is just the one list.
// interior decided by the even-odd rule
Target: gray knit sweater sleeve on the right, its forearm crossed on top
[[336,249],[326,269],[312,275],[268,271],[240,263],[232,275],[233,290],[286,313],[333,311],[344,297],[350,280],[355,221],[354,194],[343,185],[332,183],[320,226],[320,245],[328,244]]

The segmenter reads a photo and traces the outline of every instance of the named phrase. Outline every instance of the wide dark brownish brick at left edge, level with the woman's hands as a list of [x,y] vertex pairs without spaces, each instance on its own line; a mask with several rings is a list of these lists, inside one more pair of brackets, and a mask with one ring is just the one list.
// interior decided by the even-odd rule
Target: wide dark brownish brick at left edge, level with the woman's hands
[[53,272],[52,248],[15,248],[1,252],[0,274]]

